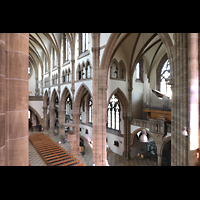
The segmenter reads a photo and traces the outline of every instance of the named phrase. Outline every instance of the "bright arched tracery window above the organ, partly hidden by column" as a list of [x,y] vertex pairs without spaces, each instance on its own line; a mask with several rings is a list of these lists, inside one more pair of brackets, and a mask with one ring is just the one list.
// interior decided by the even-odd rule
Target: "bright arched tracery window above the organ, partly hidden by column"
[[172,90],[171,90],[171,85],[168,85],[169,78],[170,78],[170,64],[169,60],[167,59],[160,71],[160,92],[171,98]]

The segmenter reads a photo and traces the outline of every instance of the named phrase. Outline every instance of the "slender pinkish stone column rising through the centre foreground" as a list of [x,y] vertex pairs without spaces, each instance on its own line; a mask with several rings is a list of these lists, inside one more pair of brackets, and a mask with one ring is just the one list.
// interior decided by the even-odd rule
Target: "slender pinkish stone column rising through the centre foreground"
[[[93,34],[93,162],[96,166],[107,165],[106,121],[107,86],[106,72],[99,68],[99,34]],[[102,70],[99,73],[99,70]]]

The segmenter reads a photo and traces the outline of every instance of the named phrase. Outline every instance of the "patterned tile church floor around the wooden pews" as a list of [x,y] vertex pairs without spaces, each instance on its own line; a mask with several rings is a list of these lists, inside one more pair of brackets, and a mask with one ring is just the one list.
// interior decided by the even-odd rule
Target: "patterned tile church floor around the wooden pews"
[[[32,133],[37,132],[29,132],[29,135]],[[49,136],[49,132],[44,132],[46,135]],[[59,136],[49,136],[52,140],[58,143]],[[87,141],[84,141],[85,145],[85,154],[79,154],[77,156],[74,156],[77,158],[77,160],[80,161],[80,163],[83,163],[83,166],[92,166],[93,164],[93,151]],[[70,144],[68,142],[65,142],[63,144],[60,144],[61,147],[66,149],[67,151],[70,151]],[[128,161],[125,161],[124,158],[118,154],[113,153],[112,151],[107,152],[107,159],[110,166],[155,166],[155,162],[146,158],[146,159],[140,159],[140,158],[132,158]],[[36,149],[33,147],[33,145],[29,142],[29,160],[31,163],[31,166],[46,166],[45,162],[41,158],[41,156],[37,153]]]

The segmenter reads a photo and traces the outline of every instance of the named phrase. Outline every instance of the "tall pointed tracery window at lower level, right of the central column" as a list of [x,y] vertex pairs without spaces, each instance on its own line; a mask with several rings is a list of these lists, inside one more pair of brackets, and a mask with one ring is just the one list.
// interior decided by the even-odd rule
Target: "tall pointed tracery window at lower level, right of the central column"
[[112,98],[110,99],[107,109],[107,117],[108,117],[107,127],[114,130],[119,130],[120,104],[119,104],[119,99],[117,98],[116,95],[113,95]]

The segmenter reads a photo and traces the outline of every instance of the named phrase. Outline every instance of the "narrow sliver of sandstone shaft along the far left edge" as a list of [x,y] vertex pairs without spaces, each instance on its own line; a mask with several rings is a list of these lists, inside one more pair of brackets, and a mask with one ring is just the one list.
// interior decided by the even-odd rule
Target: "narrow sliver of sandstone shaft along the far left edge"
[[0,33],[0,166],[6,165],[6,34]]

